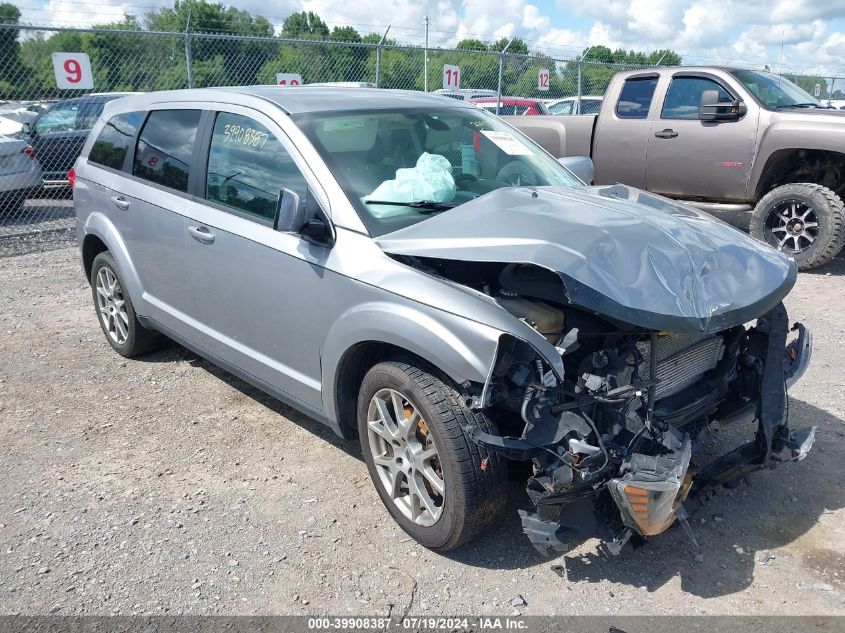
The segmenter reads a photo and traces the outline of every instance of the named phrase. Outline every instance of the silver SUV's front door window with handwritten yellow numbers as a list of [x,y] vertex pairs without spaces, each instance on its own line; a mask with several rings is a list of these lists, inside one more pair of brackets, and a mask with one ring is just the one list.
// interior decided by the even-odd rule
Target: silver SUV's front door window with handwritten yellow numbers
[[305,178],[279,139],[248,117],[218,114],[208,156],[206,197],[272,222],[283,187],[305,199]]

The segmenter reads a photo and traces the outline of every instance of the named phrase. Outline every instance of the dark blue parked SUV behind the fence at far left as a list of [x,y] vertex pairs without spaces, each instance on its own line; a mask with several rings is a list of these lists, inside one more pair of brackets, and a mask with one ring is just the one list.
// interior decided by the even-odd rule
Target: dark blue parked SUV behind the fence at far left
[[65,99],[23,124],[20,136],[35,150],[46,186],[67,186],[68,170],[82,151],[103,106],[128,94],[133,93],[110,92]]

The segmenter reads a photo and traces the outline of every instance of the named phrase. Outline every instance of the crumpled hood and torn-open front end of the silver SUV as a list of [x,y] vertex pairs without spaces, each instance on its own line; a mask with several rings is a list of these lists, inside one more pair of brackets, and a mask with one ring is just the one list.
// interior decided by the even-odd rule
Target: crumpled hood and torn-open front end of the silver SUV
[[[812,348],[781,301],[796,267],[723,223],[621,186],[515,188],[379,243],[536,331],[501,335],[471,399],[498,432],[471,436],[531,463],[520,515],[544,554],[585,536],[618,552],[676,520],[694,539],[688,498],[812,446],[786,407]],[[700,468],[704,429],[748,417],[754,439]]]

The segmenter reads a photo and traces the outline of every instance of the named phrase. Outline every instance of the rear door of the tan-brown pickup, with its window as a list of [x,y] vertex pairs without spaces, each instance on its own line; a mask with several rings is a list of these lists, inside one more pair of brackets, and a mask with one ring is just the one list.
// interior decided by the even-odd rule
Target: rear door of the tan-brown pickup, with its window
[[[605,101],[593,141],[595,182],[617,182],[645,188],[646,150],[651,129],[658,75],[644,73],[625,79],[615,102]],[[613,89],[608,89],[612,94]]]

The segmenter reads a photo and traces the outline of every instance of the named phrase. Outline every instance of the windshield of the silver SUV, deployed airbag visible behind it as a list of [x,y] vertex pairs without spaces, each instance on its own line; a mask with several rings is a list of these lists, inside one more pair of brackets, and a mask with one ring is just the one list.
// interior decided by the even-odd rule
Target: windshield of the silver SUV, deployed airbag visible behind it
[[321,112],[293,119],[374,236],[502,187],[581,184],[480,108]]

